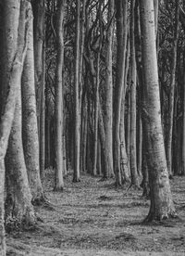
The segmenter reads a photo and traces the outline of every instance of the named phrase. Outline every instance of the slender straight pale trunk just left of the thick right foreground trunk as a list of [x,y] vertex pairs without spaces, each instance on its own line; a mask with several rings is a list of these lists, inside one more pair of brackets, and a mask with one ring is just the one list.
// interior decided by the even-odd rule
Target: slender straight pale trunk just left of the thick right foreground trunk
[[130,173],[131,184],[139,186],[137,173],[137,149],[136,149],[136,58],[134,42],[134,7],[135,0],[131,1],[130,17]]

